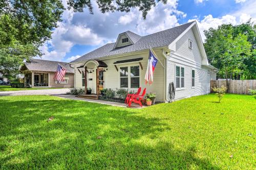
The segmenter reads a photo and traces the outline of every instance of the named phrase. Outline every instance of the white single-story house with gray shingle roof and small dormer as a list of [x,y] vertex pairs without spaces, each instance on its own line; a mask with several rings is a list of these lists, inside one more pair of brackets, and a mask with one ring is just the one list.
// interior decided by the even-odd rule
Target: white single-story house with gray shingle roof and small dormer
[[[164,65],[157,63],[151,86],[144,80],[150,47]],[[100,94],[102,88],[146,87],[147,93],[156,93],[158,102],[168,101],[171,82],[176,86],[176,100],[210,93],[210,80],[216,79],[217,71],[207,61],[195,21],[146,36],[126,31],[115,43],[105,44],[71,64],[76,88],[90,87],[92,93]]]

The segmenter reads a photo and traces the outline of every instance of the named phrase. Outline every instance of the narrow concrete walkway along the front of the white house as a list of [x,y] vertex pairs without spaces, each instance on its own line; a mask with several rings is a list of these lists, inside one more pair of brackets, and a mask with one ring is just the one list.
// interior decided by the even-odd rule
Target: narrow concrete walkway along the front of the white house
[[[92,103],[99,103],[103,105],[111,105],[111,106],[119,106],[119,107],[127,107],[125,103],[119,103],[119,102],[110,102],[110,101],[102,101],[102,100],[94,100],[94,99],[85,99],[85,98],[77,98],[75,95],[53,95],[57,96],[59,98],[66,98],[66,99],[72,99],[72,100],[79,100],[79,101],[84,101],[84,102],[92,102]],[[142,106],[144,108],[146,106]],[[141,108],[138,104],[132,104],[131,108]]]

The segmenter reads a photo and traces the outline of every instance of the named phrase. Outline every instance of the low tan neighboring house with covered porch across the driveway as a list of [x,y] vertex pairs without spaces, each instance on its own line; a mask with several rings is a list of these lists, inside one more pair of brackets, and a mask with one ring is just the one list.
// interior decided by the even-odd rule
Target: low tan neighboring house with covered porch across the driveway
[[[67,69],[63,82],[54,80],[58,64]],[[74,87],[74,68],[69,63],[30,59],[19,70],[24,74],[25,87]]]

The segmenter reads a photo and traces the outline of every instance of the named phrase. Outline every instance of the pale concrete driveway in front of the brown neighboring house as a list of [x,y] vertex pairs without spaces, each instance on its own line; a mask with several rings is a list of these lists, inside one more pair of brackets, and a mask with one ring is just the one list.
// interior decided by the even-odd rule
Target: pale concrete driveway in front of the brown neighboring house
[[66,94],[68,88],[59,89],[39,89],[39,90],[20,90],[20,91],[0,91],[0,96],[4,95],[56,95]]

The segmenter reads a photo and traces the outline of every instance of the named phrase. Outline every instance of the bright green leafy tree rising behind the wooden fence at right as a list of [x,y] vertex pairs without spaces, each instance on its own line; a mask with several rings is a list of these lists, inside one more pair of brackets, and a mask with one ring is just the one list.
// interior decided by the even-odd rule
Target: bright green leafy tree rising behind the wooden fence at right
[[221,25],[217,29],[210,28],[204,31],[204,47],[209,62],[219,69],[218,77],[225,78],[227,86],[228,80],[255,74],[255,70],[248,69],[249,65],[255,67],[255,62],[249,61],[255,57],[252,45],[255,43],[255,29],[251,28],[252,25],[247,22],[240,26]]

